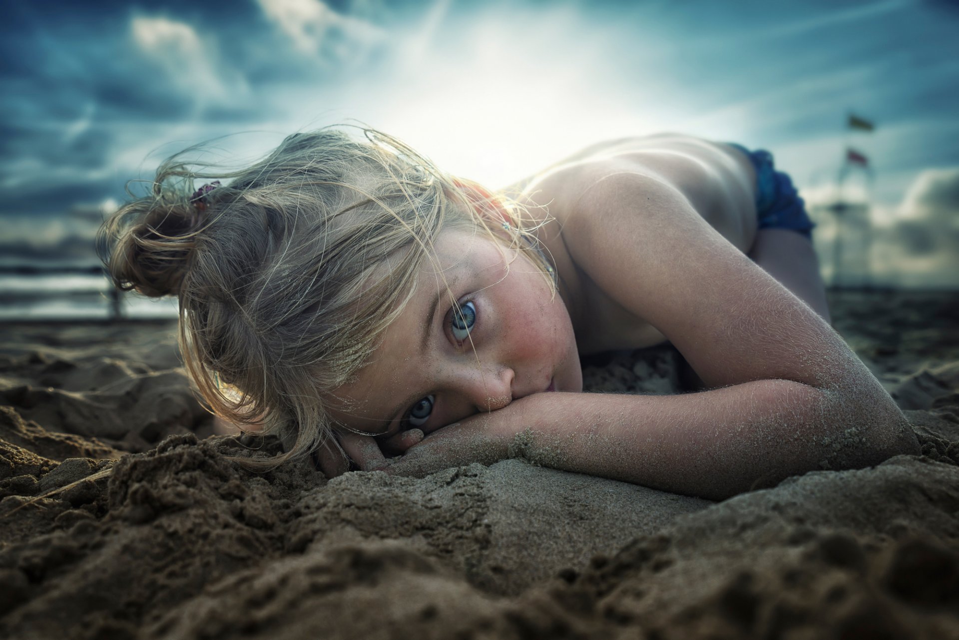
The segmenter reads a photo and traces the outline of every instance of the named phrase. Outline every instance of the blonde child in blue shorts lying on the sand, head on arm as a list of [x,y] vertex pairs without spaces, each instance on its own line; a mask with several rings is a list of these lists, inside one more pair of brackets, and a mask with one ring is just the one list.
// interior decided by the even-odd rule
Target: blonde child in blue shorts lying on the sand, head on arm
[[[523,457],[719,499],[919,453],[830,329],[767,152],[625,138],[490,194],[363,133],[294,134],[244,171],[175,156],[105,225],[116,285],[178,297],[200,393],[279,432],[274,464]],[[580,393],[581,354],[666,340],[702,391]]]

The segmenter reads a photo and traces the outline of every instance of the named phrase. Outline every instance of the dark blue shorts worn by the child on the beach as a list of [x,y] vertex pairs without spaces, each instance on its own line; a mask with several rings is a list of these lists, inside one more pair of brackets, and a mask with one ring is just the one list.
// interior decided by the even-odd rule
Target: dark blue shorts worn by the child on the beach
[[765,149],[750,151],[736,143],[726,143],[749,156],[756,168],[756,211],[760,229],[791,229],[812,240],[816,223],[806,213],[806,203],[783,171],[773,166],[773,154]]

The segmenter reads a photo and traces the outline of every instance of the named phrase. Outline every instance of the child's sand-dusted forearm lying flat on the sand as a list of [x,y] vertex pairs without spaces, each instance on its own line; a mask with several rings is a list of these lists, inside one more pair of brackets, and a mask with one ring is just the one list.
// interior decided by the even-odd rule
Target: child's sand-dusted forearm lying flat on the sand
[[861,468],[918,453],[895,406],[856,406],[838,392],[790,380],[681,396],[544,396],[549,404],[544,400],[513,438],[510,455],[713,499],[811,469]]

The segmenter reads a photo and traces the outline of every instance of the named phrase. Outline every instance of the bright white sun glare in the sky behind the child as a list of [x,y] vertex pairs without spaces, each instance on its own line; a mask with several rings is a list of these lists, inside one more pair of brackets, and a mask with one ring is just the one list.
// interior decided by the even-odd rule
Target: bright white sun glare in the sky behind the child
[[571,16],[557,10],[549,34],[488,20],[457,30],[455,43],[409,41],[396,48],[408,57],[378,80],[346,88],[337,113],[494,187],[604,137],[664,126],[606,77],[609,65]]

